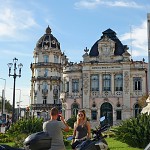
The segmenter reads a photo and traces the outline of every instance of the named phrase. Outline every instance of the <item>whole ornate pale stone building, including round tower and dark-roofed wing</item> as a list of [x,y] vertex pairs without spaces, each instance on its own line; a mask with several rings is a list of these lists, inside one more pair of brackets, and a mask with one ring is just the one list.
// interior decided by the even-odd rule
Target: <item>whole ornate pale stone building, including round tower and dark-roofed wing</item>
[[102,32],[83,61],[68,62],[60,43],[46,29],[34,49],[31,100],[34,113],[57,105],[66,119],[85,109],[92,125],[106,116],[111,125],[137,116],[138,100],[147,93],[147,63],[133,61],[116,33]]

